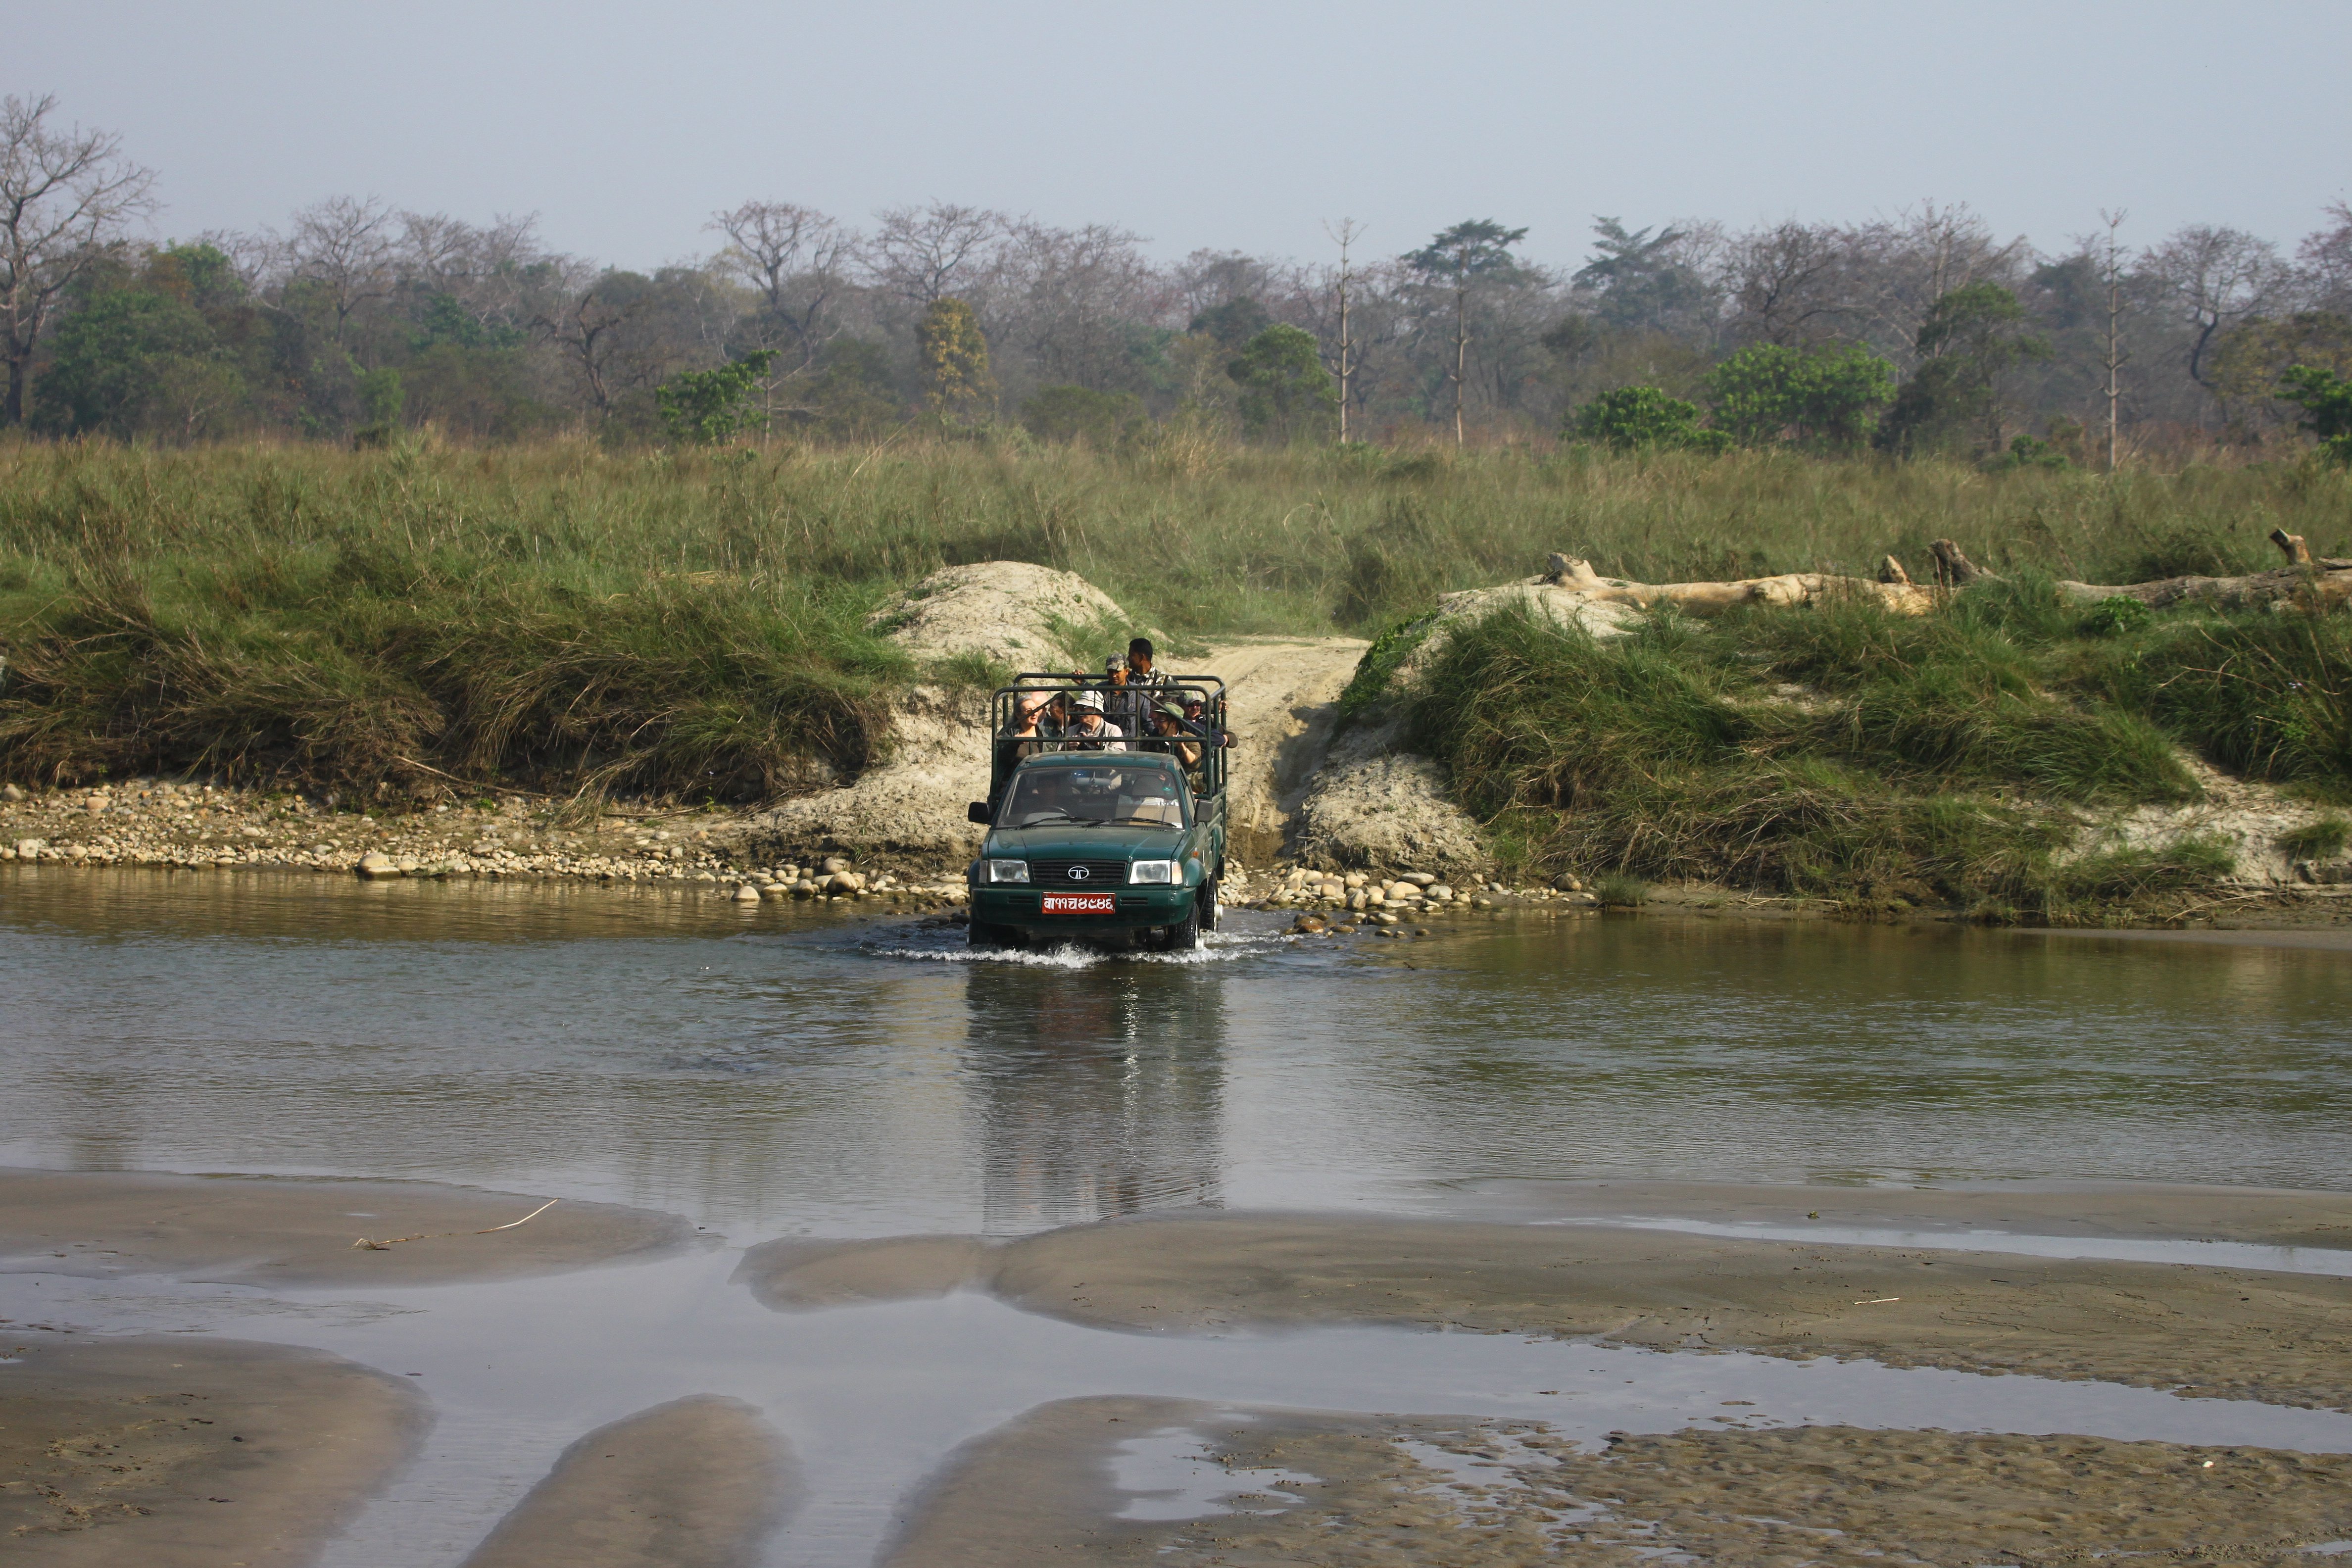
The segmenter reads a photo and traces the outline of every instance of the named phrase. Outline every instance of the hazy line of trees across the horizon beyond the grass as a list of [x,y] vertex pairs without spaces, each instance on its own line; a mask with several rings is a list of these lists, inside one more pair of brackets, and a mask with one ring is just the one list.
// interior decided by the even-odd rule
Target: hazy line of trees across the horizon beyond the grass
[[[1117,444],[1512,440],[2105,463],[2281,447],[2352,376],[2352,207],[2293,247],[2124,214],[2044,252],[1969,207],[1867,223],[1592,223],[1576,268],[1472,219],[1395,254],[1200,249],[1108,223],[781,200],[633,270],[532,219],[332,197],[282,230],[146,242],[153,174],[54,99],[0,103],[0,425],[195,442],[590,430],[875,440],[1018,421]],[[2338,416],[2340,418],[2340,416]],[[2343,435],[2340,430],[2336,433]]]

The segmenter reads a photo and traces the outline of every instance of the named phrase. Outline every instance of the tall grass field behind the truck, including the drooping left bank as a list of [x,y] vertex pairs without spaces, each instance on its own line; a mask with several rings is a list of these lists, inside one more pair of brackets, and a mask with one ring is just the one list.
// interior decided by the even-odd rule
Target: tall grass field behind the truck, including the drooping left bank
[[[1983,564],[2122,581],[2263,567],[2279,524],[2352,552],[2347,520],[2352,477],[2310,465],[0,444],[0,769],[800,788],[870,762],[910,675],[868,614],[1000,557],[1077,571],[1178,637],[1369,635],[1548,550],[1675,581],[1917,564],[1950,536]],[[1884,745],[1929,766],[1978,738]]]

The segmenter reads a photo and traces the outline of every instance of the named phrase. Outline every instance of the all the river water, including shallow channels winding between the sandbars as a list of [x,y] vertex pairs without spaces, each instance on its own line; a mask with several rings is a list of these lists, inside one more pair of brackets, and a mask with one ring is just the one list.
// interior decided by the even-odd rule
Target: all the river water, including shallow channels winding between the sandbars
[[[1388,1328],[1127,1335],[978,1295],[783,1316],[727,1284],[739,1246],[783,1234],[1475,1213],[1505,1178],[2352,1187],[2343,945],[1432,931],[1289,940],[1242,912],[1181,961],[976,959],[943,924],[715,893],[9,867],[0,1164],[433,1178],[708,1227],[602,1272],[590,1305],[579,1276],[365,1300],[42,1284],[45,1312],[96,1331],[423,1373],[426,1458],[334,1563],[452,1563],[583,1429],[691,1392],[793,1439],[807,1505],[771,1561],[795,1566],[868,1561],[948,1448],[1089,1392],[1588,1434],[1731,1396],[1759,1422],[1900,1425],[1933,1401],[1955,1427],[2352,1448],[2352,1418],[2105,1385]],[[24,1284],[0,1276],[0,1314]],[[1131,1458],[1160,1497],[1136,1507],[1216,1507]]]

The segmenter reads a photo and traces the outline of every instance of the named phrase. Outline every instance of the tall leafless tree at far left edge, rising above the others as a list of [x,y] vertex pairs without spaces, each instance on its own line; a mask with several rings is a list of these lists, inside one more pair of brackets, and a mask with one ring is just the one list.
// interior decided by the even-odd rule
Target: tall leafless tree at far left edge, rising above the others
[[52,129],[54,96],[0,99],[0,425],[24,423],[33,353],[59,299],[155,209],[155,174],[113,132]]

